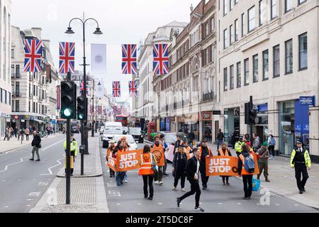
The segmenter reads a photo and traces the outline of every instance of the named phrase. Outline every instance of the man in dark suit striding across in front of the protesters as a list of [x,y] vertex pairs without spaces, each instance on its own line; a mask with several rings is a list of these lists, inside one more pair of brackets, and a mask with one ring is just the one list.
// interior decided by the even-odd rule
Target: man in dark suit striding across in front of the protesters
[[191,191],[186,192],[183,196],[177,197],[177,206],[179,207],[179,204],[181,201],[188,196],[191,196],[195,194],[195,211],[203,212],[204,210],[201,209],[199,206],[199,199],[201,198],[201,189],[199,187],[199,169],[200,169],[200,162],[199,162],[199,152],[200,150],[198,148],[193,149],[194,156],[191,157],[189,160],[187,160],[185,172],[186,177],[189,180],[189,183],[191,183]]

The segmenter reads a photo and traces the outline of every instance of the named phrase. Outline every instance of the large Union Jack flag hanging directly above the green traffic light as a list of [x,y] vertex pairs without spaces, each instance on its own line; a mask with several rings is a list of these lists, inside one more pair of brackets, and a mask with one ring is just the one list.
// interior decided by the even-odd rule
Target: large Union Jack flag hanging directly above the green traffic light
[[74,72],[75,43],[59,43],[60,73]]

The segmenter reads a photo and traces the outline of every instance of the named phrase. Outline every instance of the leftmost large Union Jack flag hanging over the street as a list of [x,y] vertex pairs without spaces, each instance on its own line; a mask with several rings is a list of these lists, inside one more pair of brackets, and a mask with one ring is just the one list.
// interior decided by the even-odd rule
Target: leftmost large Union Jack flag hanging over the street
[[42,40],[26,38],[24,43],[24,72],[40,72]]

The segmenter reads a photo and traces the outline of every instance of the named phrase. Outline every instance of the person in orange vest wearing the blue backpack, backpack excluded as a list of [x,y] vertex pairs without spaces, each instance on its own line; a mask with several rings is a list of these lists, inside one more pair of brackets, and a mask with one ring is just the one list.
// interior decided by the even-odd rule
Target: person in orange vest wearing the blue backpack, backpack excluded
[[242,199],[250,199],[250,196],[252,196],[252,176],[254,173],[245,170],[245,158],[249,155],[254,160],[254,155],[250,153],[250,146],[247,144],[242,145],[242,153],[238,158],[238,175],[239,177],[242,177],[245,192],[245,197]]

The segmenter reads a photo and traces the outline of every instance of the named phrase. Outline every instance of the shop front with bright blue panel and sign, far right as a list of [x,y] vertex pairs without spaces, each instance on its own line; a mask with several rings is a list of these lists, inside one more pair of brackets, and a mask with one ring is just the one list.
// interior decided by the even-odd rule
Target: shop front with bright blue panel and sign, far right
[[309,150],[309,106],[315,106],[314,96],[279,102],[280,154],[291,155],[297,139]]

